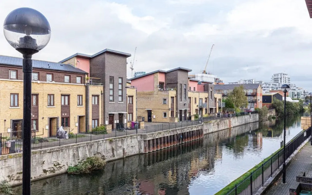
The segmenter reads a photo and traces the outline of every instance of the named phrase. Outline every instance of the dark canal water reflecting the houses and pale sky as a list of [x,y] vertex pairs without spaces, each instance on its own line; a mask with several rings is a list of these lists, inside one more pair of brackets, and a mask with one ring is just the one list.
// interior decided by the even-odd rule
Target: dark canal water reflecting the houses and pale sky
[[[286,141],[300,116],[288,118]],[[59,175],[32,182],[32,195],[214,195],[270,156],[283,139],[283,120],[250,123],[203,139],[108,162],[90,175]],[[21,194],[21,186],[14,188]]]

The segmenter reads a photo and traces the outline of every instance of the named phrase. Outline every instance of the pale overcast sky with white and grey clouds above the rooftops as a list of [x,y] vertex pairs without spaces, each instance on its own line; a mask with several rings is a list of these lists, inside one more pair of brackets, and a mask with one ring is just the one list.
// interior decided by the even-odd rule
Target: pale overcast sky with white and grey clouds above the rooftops
[[[284,72],[312,91],[312,19],[305,0],[1,0],[0,23],[19,7],[49,20],[33,59],[59,61],[105,48],[134,54],[135,71],[208,68],[224,82]],[[0,33],[0,55],[21,57]],[[131,77],[128,58],[128,78]]]

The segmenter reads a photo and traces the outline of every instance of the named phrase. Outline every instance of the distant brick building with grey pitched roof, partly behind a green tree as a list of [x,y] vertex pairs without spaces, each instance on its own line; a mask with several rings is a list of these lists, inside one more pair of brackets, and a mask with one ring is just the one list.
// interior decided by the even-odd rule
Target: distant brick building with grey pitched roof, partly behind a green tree
[[215,93],[222,93],[222,98],[226,99],[235,87],[242,85],[248,99],[246,108],[254,111],[255,108],[262,108],[262,87],[260,84],[225,84],[215,85]]

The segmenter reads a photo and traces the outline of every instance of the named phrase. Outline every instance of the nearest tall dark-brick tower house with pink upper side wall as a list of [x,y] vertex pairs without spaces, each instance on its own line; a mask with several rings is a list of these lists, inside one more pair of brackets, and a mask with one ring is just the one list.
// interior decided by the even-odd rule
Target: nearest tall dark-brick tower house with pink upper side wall
[[87,72],[90,83],[103,83],[101,124],[110,124],[112,128],[127,124],[126,66],[130,56],[127,53],[104,49],[94,55],[77,53],[60,61]]

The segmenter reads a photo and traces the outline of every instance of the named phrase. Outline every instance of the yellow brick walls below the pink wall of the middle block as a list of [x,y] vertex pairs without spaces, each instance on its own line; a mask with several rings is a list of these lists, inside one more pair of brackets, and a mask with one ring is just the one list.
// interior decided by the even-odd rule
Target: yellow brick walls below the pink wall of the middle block
[[[144,117],[148,121],[148,111],[152,111],[152,122],[174,122],[176,112],[171,117],[171,97],[174,97],[174,109],[176,109],[176,90],[156,90],[148,92],[137,92],[137,117]],[[167,104],[163,104],[163,99],[167,99]],[[164,117],[167,113],[167,117]]]

